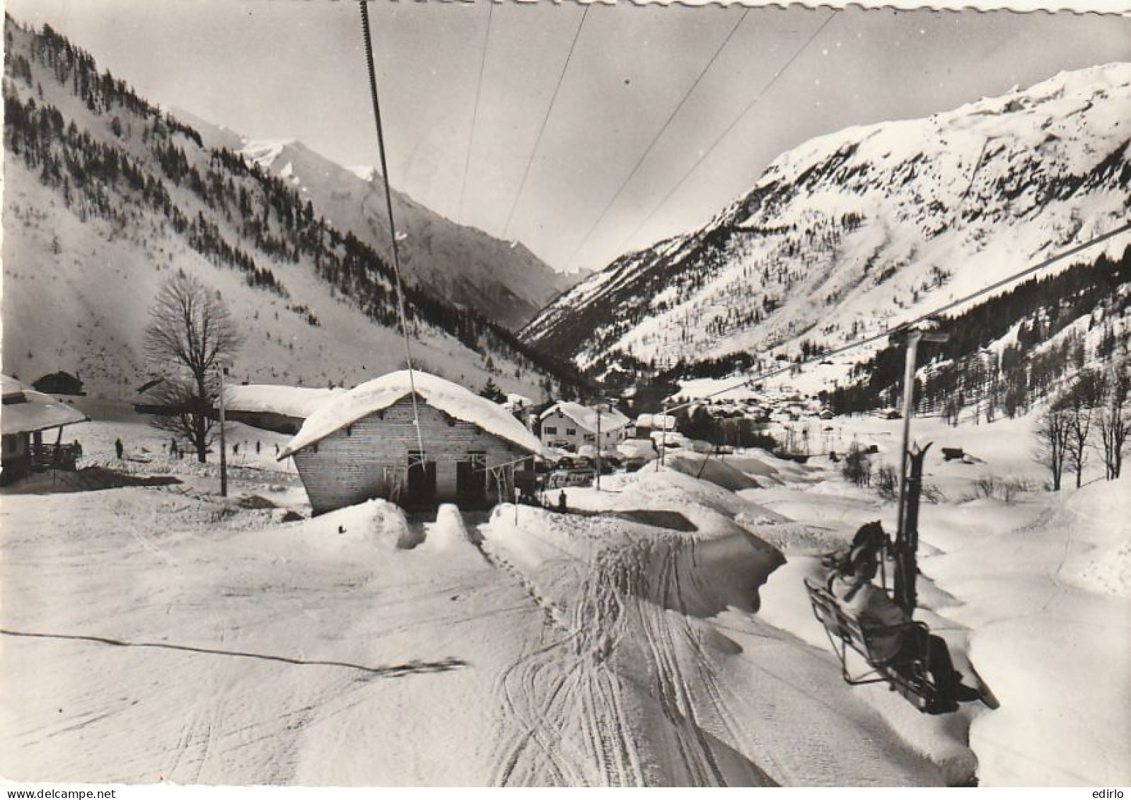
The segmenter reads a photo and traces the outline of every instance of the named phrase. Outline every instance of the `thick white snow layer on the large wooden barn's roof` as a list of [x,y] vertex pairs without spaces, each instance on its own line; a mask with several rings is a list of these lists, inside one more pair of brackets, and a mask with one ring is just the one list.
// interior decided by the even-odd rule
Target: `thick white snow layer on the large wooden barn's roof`
[[524,450],[539,455],[543,453],[538,438],[497,403],[450,380],[420,370],[413,370],[409,381],[408,370],[399,370],[355,386],[319,406],[307,418],[302,428],[279,454],[279,458],[286,458],[363,416],[388,408],[402,397],[407,397],[414,387],[416,394],[433,408],[457,420],[470,422]]

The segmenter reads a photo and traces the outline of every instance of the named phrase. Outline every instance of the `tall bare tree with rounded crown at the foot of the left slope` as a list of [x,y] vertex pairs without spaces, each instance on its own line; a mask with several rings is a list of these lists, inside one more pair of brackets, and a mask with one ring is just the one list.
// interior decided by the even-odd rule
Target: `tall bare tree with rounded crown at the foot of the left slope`
[[[150,396],[166,411],[153,424],[184,436],[204,463],[218,392],[216,369],[239,349],[240,335],[219,294],[184,272],[161,287],[149,318],[146,359],[164,373]],[[184,373],[171,373],[174,368]]]

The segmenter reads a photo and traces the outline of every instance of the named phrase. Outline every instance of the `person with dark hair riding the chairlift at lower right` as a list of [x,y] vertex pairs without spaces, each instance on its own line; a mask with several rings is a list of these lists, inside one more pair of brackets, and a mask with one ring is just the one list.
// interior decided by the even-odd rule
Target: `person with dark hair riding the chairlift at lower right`
[[[879,558],[880,551],[871,541],[854,547],[848,559],[830,574],[829,592],[846,613],[864,626],[890,627],[909,622],[910,617],[892,602],[887,592],[872,583]],[[912,633],[892,631],[871,642],[871,650],[878,663],[908,661],[921,656],[924,648],[931,677],[939,691],[940,706],[953,708],[957,703],[979,698],[976,689],[962,685],[962,676],[955,670],[950,651],[941,637],[932,635],[923,642],[921,636]]]

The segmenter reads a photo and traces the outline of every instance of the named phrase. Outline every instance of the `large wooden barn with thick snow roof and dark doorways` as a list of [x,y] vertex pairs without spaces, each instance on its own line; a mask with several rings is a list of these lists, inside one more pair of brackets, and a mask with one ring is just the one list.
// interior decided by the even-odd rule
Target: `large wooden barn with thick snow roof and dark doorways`
[[313,513],[322,514],[371,498],[405,508],[486,507],[511,499],[516,482],[533,482],[542,451],[495,403],[402,370],[320,405],[279,458],[294,457]]

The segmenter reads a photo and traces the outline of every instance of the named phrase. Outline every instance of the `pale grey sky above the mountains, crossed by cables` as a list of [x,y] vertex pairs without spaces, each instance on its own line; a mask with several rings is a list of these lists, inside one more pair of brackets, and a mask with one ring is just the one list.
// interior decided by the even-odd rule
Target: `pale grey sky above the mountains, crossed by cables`
[[[702,224],[813,136],[1131,60],[1125,16],[625,2],[587,14],[545,2],[370,9],[392,184],[521,240],[559,269],[599,268]],[[8,0],[8,12],[50,23],[152,101],[253,139],[297,138],[345,165],[378,162],[356,3]]]

